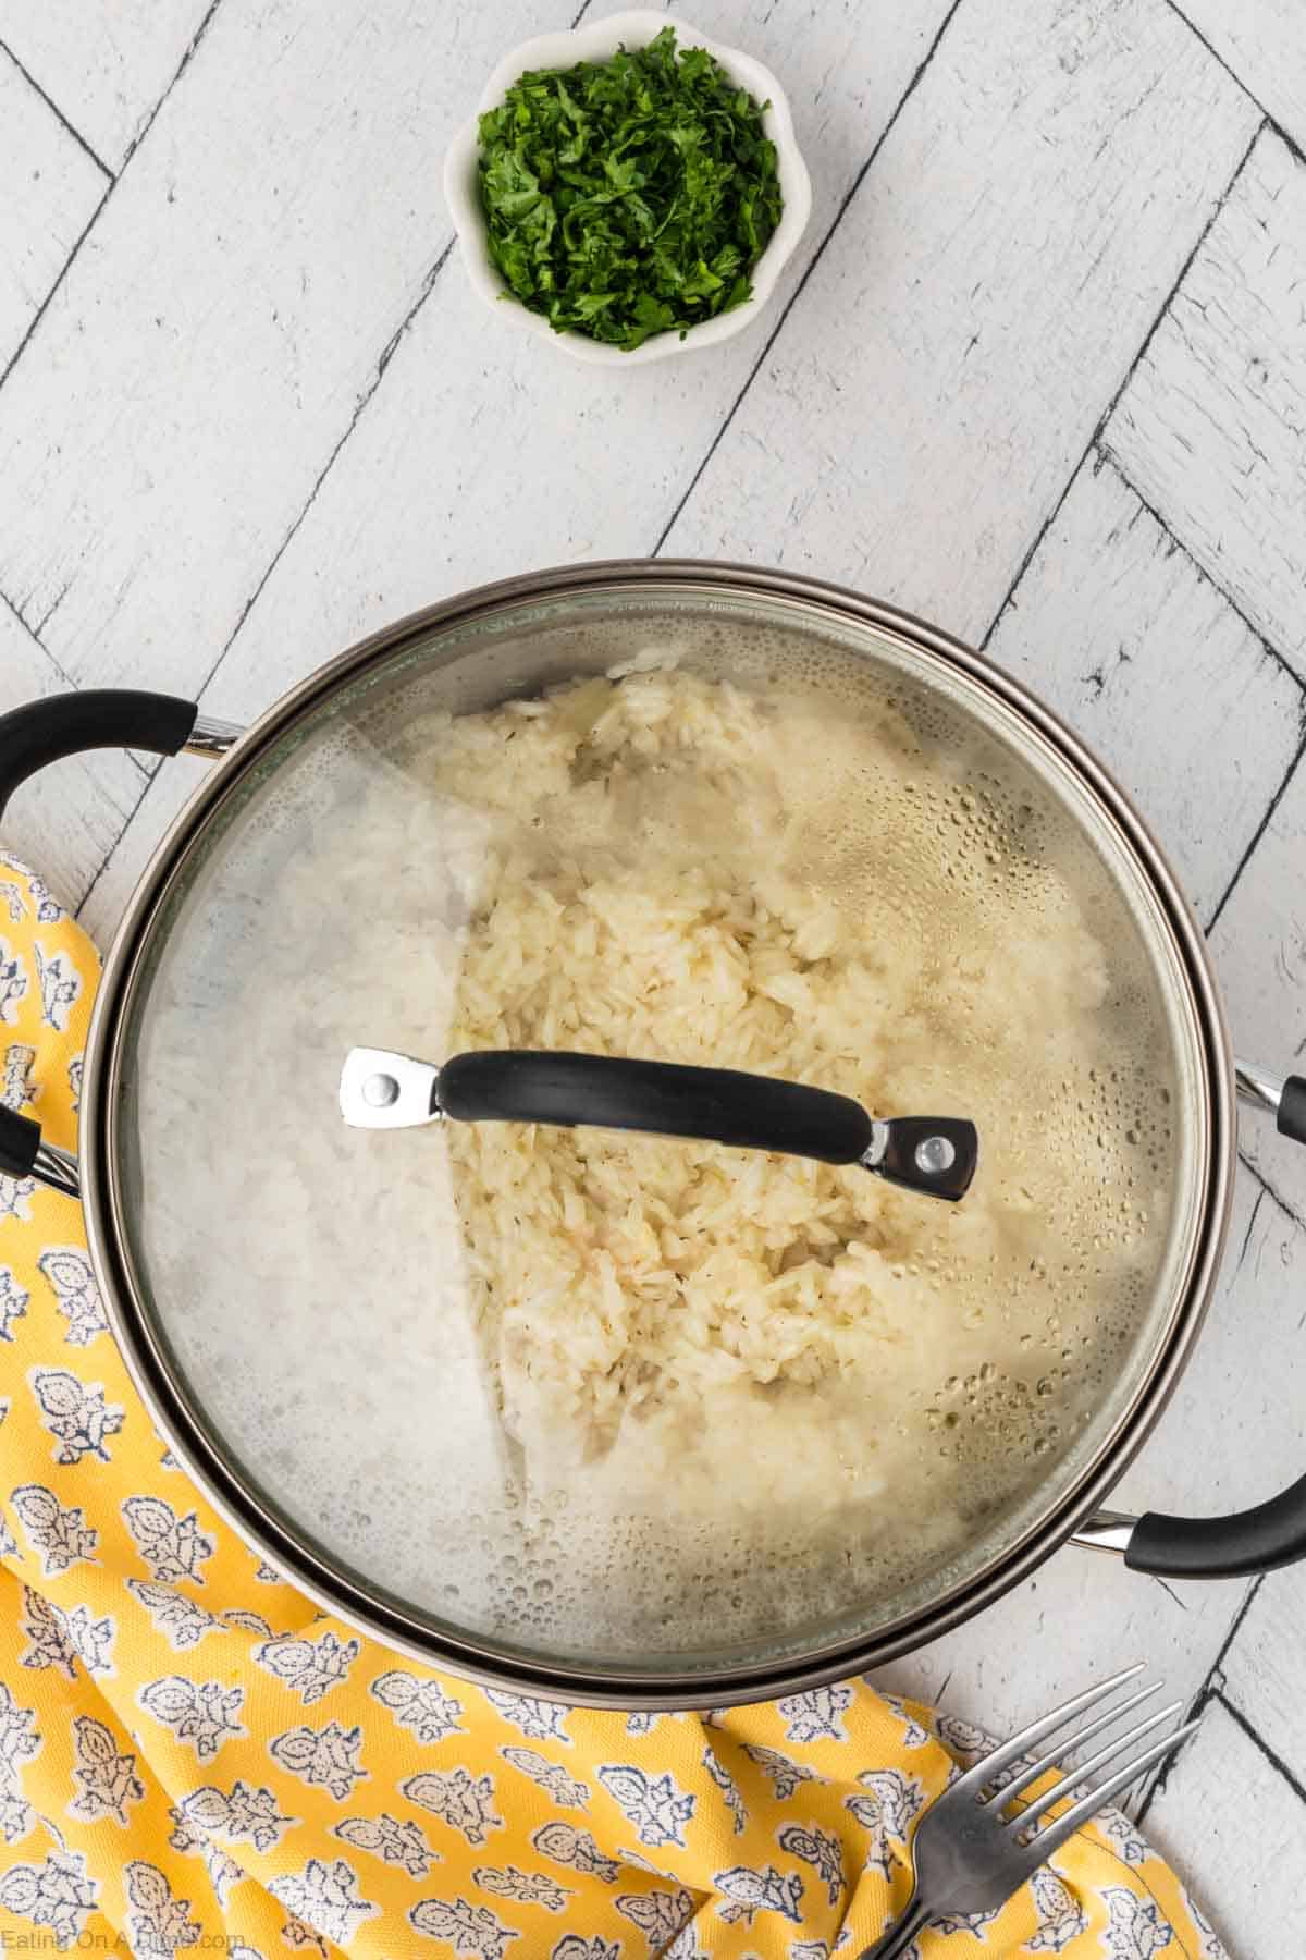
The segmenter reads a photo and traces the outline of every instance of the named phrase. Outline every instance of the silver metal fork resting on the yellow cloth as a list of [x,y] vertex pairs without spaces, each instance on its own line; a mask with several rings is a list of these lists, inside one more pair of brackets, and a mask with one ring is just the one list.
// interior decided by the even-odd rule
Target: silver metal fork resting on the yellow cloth
[[[1022,1795],[1030,1784],[1036,1784],[1040,1776],[1055,1768],[1057,1760],[1073,1748],[1081,1748],[1085,1742],[1100,1735],[1102,1729],[1110,1729],[1112,1723],[1120,1721],[1132,1709],[1161,1688],[1161,1682],[1153,1682],[1149,1688],[1140,1688],[1138,1693],[1128,1695],[1124,1701],[1104,1709],[1104,1713],[1095,1715],[1091,1723],[1085,1723],[1067,1742],[1040,1756],[1036,1762],[1022,1762],[1020,1758],[1036,1742],[1046,1740],[1063,1729],[1071,1717],[1079,1715],[1083,1709],[1095,1707],[1098,1701],[1106,1701],[1114,1695],[1118,1688],[1132,1682],[1143,1672],[1143,1662],[1140,1660],[1132,1668],[1124,1668],[1120,1674],[1112,1674],[1108,1682],[1100,1688],[1087,1688],[1085,1693],[1075,1695],[1065,1701],[1051,1715],[1044,1715],[1042,1721],[1030,1723],[1020,1735],[1014,1735],[1010,1742],[1003,1742],[995,1748],[983,1762],[977,1762],[973,1770],[959,1776],[948,1786],[944,1795],[930,1805],[930,1809],[920,1819],[916,1837],[912,1840],[912,1866],[914,1866],[914,1886],[912,1895],[907,1901],[907,1911],[895,1927],[889,1929],[873,1946],[863,1946],[860,1960],[899,1960],[901,1954],[909,1950],[912,1940],[932,1919],[942,1919],[946,1913],[991,1913],[999,1905],[1004,1905],[1014,1891],[1024,1886],[1028,1878],[1046,1864],[1055,1850],[1065,1844],[1067,1837],[1087,1825],[1091,1817],[1096,1817],[1112,1797],[1118,1797],[1130,1788],[1130,1784],[1149,1770],[1153,1764],[1169,1756],[1171,1750],[1181,1748],[1189,1737],[1194,1733],[1198,1723],[1185,1723],[1171,1735],[1161,1737],[1159,1742],[1151,1742],[1138,1756],[1116,1770],[1104,1784],[1091,1789],[1087,1797],[1073,1803],[1063,1817],[1053,1817],[1049,1825],[1042,1831],[1034,1831],[1034,1825],[1044,1817],[1055,1803],[1069,1797],[1073,1789],[1087,1784],[1091,1776],[1104,1770],[1108,1762],[1116,1762],[1130,1750],[1140,1737],[1157,1729],[1171,1715],[1179,1715],[1183,1701],[1171,1701],[1169,1707],[1159,1709],[1155,1715],[1147,1715],[1145,1721],[1136,1723],[1118,1735],[1112,1742],[1106,1742],[1096,1754],[1077,1768],[1069,1770],[1051,1789],[1042,1795],[1032,1797],[1030,1803],[1016,1811],[1014,1817],[1004,1815],[1008,1803]],[[995,1778],[1001,1778],[1004,1770],[1014,1766],[1014,1774],[1008,1782],[995,1786]]]

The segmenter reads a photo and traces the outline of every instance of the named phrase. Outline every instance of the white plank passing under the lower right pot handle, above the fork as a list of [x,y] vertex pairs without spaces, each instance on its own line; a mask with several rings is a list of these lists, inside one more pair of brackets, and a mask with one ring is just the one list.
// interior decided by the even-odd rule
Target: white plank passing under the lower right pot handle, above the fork
[[[1120,1478],[1112,1507],[1214,1515],[1302,1474],[1283,1384],[1298,1368],[1304,1290],[1306,1231],[1239,1170],[1216,1299],[1175,1399]],[[1032,1721],[1077,1684],[1132,1660],[1163,1674],[1171,1695],[1192,1699],[1245,1593],[1241,1580],[1171,1586],[1128,1572],[1114,1554],[1065,1546],[979,1619],[875,1680],[999,1729]]]

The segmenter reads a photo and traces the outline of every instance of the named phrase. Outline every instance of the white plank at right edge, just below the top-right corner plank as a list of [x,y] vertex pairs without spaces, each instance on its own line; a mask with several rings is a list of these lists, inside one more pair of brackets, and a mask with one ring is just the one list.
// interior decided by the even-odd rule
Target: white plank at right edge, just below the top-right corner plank
[[1267,131],[1106,429],[1132,484],[1306,672],[1306,165]]

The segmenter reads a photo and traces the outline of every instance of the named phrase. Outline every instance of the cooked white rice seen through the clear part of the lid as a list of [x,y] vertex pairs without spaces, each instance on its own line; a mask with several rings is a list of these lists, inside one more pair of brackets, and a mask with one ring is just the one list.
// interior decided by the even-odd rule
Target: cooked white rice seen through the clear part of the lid
[[[1063,1341],[1053,1356],[1036,1341],[1042,1264],[1067,1196],[1083,1201],[1085,1137],[1055,1149],[1059,1086],[1098,1058],[1106,994],[1069,888],[1006,866],[973,790],[922,782],[885,708],[672,666],[423,739],[439,790],[490,819],[452,1051],[748,1068],[883,1115],[971,1113],[983,1135],[977,1186],[950,1211],[860,1166],[452,1125],[476,1319],[527,1470],[617,1450],[625,1488],[660,1501],[721,1480],[768,1501],[752,1452],[734,1454],[752,1421],[801,1437],[797,1482],[824,1507],[867,1486],[901,1503],[957,1413],[946,1384],[999,1376],[1022,1433],[1003,1468],[989,1439],[985,1482],[1046,1448],[1046,1403],[1065,1409],[1075,1370]],[[1051,1133],[1016,1139],[1030,1094]],[[1124,1137],[1110,1151],[1128,1156]]]

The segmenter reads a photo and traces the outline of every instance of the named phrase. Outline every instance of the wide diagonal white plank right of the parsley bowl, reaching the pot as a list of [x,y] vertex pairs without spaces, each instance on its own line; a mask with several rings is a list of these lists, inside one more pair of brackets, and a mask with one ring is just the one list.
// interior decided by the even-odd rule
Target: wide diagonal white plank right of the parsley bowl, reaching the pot
[[969,0],[668,551],[983,635],[1255,120],[1163,0]]

